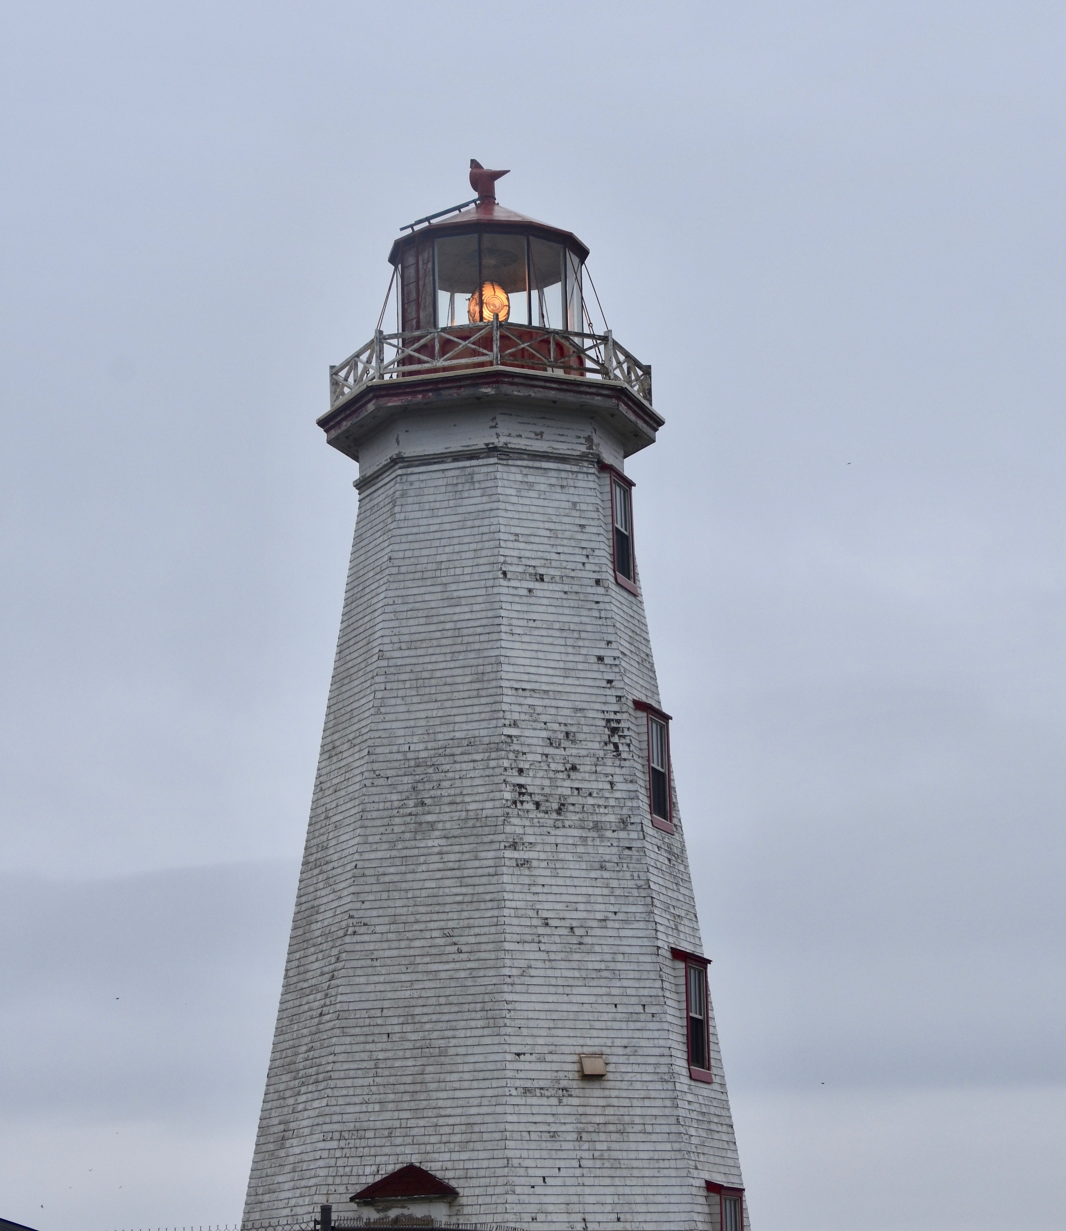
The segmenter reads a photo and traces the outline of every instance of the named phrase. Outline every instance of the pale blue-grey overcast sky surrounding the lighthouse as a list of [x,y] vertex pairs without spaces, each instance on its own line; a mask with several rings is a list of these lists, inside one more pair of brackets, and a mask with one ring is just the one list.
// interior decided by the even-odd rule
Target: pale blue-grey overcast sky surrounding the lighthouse
[[0,1216],[240,1216],[398,228],[511,167],[636,544],[753,1231],[1061,1227],[1061,2],[0,4]]

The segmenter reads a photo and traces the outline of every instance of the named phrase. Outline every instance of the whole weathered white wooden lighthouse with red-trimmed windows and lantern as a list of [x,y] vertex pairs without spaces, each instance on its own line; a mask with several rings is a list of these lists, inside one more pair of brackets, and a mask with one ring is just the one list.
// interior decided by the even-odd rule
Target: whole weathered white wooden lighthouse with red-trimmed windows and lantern
[[663,420],[505,174],[330,373],[358,517],[245,1227],[747,1226],[625,473]]

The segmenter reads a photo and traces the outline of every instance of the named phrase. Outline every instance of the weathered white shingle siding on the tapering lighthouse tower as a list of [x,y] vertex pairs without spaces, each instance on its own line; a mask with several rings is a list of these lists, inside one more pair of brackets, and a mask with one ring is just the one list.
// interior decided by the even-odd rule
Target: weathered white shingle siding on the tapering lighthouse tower
[[602,460],[579,404],[361,446],[246,1220],[342,1219],[417,1163],[457,1224],[705,1231],[705,1181],[742,1183],[713,1016],[715,1083],[688,1077],[671,947],[703,949],[676,796],[676,833],[649,820],[631,699],[661,702]]

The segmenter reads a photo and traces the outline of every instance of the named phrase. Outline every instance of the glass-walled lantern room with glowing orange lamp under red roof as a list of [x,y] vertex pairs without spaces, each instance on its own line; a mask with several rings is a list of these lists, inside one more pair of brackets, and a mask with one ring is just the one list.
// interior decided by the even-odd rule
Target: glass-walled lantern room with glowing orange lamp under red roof
[[414,223],[389,254],[401,332],[490,324],[494,316],[512,326],[585,332],[588,249],[576,235],[505,209],[495,196],[441,222],[419,222],[425,225]]

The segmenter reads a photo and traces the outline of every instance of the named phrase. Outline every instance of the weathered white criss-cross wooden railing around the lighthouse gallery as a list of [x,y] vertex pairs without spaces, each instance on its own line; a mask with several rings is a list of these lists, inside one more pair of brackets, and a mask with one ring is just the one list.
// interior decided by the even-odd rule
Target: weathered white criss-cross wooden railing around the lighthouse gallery
[[458,368],[507,367],[555,375],[613,380],[651,405],[651,367],[641,363],[608,330],[571,334],[532,325],[485,325],[422,329],[374,336],[330,367],[330,410],[374,380],[449,372]]

